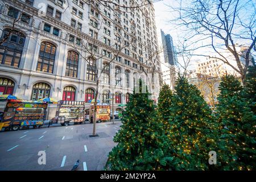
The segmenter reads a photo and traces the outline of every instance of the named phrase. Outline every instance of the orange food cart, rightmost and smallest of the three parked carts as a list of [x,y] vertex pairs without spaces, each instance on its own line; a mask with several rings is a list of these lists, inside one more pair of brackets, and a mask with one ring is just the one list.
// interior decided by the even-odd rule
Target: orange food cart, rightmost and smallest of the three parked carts
[[[90,105],[90,122],[93,122],[93,111],[94,111],[94,104]],[[96,111],[96,122],[104,122],[110,120],[110,105],[109,104],[101,104],[97,103],[97,111]]]

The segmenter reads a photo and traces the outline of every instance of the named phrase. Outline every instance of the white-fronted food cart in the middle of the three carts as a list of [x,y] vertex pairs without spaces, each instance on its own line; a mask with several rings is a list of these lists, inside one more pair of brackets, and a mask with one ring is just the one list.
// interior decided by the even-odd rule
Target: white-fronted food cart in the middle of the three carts
[[57,105],[57,123],[68,126],[69,123],[79,124],[85,122],[85,102],[83,101],[59,101]]

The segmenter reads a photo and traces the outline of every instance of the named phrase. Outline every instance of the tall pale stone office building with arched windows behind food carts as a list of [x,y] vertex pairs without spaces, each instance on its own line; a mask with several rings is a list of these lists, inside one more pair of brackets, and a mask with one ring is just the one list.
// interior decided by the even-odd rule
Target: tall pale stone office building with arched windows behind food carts
[[[0,0],[0,94],[89,102],[96,92],[93,69],[111,62],[100,80],[98,100],[108,102],[114,94],[114,108],[120,109],[142,70],[150,72],[154,64],[155,75],[160,74],[159,57],[152,56],[158,49],[153,4],[123,8],[141,2]],[[97,67],[85,61],[90,56],[85,46],[95,48]],[[119,73],[123,77],[115,78]],[[158,98],[158,78],[153,98]]]

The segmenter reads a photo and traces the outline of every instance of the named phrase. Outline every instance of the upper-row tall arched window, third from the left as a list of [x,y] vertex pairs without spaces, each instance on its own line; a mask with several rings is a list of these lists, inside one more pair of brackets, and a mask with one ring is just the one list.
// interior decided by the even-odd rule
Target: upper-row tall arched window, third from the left
[[68,51],[65,76],[77,77],[79,54],[75,51]]

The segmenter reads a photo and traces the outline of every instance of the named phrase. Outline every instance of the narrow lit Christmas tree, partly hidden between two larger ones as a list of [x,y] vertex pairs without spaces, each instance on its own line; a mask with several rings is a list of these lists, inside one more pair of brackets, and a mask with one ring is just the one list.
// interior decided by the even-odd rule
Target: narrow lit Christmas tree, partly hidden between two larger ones
[[158,119],[163,123],[164,130],[166,134],[171,127],[171,123],[168,122],[168,119],[171,115],[171,101],[172,101],[172,91],[170,86],[164,84],[160,89],[159,98],[158,98]]

